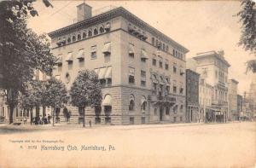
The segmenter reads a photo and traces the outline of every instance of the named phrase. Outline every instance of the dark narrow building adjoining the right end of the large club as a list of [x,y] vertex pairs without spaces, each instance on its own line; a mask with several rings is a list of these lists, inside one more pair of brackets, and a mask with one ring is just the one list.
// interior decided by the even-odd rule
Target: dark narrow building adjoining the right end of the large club
[[199,77],[197,72],[186,69],[186,121],[200,122]]

